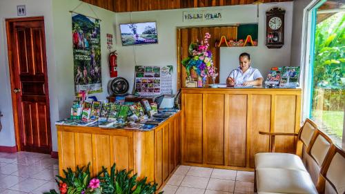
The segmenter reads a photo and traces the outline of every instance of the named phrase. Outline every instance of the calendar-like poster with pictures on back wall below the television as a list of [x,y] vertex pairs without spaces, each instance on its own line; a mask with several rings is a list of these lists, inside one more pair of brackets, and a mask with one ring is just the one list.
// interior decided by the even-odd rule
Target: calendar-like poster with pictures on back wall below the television
[[135,66],[135,92],[141,96],[171,95],[172,66]]

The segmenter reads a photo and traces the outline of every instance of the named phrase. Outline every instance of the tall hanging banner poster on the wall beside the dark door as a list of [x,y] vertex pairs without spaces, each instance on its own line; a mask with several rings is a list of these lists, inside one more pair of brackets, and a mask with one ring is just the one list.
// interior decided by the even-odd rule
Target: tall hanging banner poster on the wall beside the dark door
[[102,92],[99,19],[72,13],[75,92]]

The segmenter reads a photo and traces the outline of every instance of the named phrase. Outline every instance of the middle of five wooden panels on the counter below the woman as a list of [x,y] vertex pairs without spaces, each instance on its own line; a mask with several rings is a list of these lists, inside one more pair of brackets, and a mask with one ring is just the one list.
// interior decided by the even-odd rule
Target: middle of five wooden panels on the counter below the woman
[[227,95],[224,107],[226,165],[246,167],[247,95]]

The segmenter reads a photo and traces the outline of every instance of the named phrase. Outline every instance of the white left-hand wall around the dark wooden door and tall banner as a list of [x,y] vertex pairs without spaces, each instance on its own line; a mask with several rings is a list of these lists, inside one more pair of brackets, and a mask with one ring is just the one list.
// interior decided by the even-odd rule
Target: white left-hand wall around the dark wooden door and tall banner
[[[69,116],[69,108],[74,99],[74,78],[72,58],[72,19],[70,10],[76,8],[78,0],[12,0],[0,1],[0,110],[3,113],[0,132],[0,146],[15,146],[13,112],[10,91],[10,73],[6,45],[6,18],[17,17],[17,5],[26,5],[26,17],[43,16],[46,32],[46,53],[48,66],[48,84],[50,93],[50,122],[52,130],[52,150],[57,151],[57,133],[55,122]],[[103,93],[96,96],[105,99],[108,95],[108,50],[106,34],[114,35],[115,13],[91,6],[101,21],[101,57]],[[83,3],[76,12],[95,17],[88,4]]]

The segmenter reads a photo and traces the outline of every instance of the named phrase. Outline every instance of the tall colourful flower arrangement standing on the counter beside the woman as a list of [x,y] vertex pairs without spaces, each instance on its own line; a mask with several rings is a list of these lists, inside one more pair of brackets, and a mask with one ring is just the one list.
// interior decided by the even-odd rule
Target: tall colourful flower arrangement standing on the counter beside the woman
[[188,78],[190,78],[190,69],[195,70],[203,80],[206,80],[207,77],[215,79],[218,76],[218,73],[215,72],[216,68],[213,66],[212,52],[208,50],[210,37],[210,33],[206,32],[204,41],[190,43],[189,56],[181,61],[186,68]]

